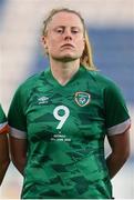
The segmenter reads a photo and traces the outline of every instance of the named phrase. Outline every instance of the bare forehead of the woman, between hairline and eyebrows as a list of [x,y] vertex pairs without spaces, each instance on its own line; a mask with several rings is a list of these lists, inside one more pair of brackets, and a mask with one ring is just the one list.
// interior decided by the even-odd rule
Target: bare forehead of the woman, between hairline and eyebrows
[[52,17],[49,27],[56,27],[56,26],[83,28],[82,21],[79,16],[72,12],[64,12],[64,11],[58,12]]

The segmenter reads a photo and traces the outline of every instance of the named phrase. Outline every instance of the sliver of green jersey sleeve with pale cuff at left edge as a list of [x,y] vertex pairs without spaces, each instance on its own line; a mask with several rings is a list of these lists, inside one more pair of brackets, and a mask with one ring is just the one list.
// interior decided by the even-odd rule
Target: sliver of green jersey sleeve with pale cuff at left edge
[[8,132],[8,122],[6,119],[6,114],[2,110],[2,107],[0,104],[0,133],[7,133]]

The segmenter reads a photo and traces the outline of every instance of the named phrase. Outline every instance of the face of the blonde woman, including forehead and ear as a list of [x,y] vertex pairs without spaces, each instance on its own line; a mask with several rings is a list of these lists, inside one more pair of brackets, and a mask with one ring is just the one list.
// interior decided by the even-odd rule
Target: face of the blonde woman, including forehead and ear
[[59,12],[48,24],[42,38],[50,59],[68,62],[81,58],[84,50],[84,30],[81,19],[69,12]]

